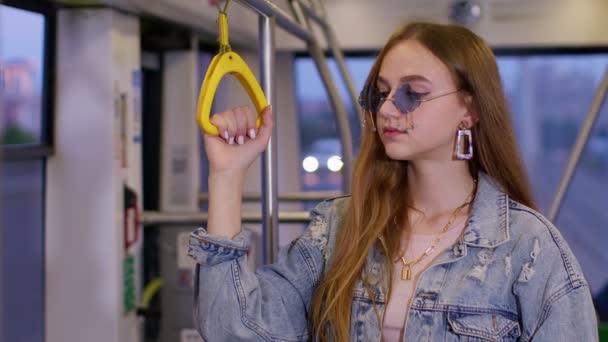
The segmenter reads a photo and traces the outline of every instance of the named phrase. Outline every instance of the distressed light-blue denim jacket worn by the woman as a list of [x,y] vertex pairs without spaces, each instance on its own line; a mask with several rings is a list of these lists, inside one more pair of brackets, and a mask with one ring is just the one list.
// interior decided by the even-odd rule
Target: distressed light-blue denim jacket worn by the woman
[[[205,341],[310,340],[311,296],[349,200],[319,204],[306,232],[256,272],[247,269],[247,230],[231,240],[203,228],[193,232],[194,319]],[[383,253],[372,249],[366,273],[375,298],[360,280],[355,284],[351,341],[381,340],[388,301],[383,263]],[[589,287],[561,234],[485,174],[462,237],[420,275],[403,310],[406,341],[598,340]]]

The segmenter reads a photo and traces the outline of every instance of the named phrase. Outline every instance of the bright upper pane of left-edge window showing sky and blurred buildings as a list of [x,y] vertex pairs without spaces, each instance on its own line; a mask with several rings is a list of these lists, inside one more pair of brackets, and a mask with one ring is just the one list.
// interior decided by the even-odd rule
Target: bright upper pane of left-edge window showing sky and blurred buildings
[[43,140],[45,21],[41,13],[0,5],[3,145]]

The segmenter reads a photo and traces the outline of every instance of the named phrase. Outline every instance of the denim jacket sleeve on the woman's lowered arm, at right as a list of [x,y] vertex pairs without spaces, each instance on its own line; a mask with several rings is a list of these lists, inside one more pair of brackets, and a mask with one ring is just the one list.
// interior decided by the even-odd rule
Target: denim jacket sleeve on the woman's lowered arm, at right
[[598,341],[595,308],[583,270],[561,233],[548,221],[542,224],[545,236],[539,233],[522,242],[530,251],[524,254],[526,263],[516,286],[522,294],[522,340]]

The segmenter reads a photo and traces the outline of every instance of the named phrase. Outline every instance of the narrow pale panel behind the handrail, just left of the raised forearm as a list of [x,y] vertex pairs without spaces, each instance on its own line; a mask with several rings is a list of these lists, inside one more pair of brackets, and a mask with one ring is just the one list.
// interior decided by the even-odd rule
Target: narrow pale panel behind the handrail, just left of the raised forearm
[[[163,55],[160,210],[165,212],[192,212],[199,207],[200,133],[195,116],[198,61],[196,49]],[[187,254],[187,246],[194,228],[196,225],[161,227],[161,341],[184,341],[181,328],[193,326],[191,281],[195,263]]]

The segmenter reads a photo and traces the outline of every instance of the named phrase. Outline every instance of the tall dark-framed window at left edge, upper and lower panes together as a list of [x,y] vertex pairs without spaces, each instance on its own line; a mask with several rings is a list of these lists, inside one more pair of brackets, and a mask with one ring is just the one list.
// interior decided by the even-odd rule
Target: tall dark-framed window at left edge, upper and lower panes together
[[0,5],[0,340],[44,340],[44,175],[50,155],[52,5]]

